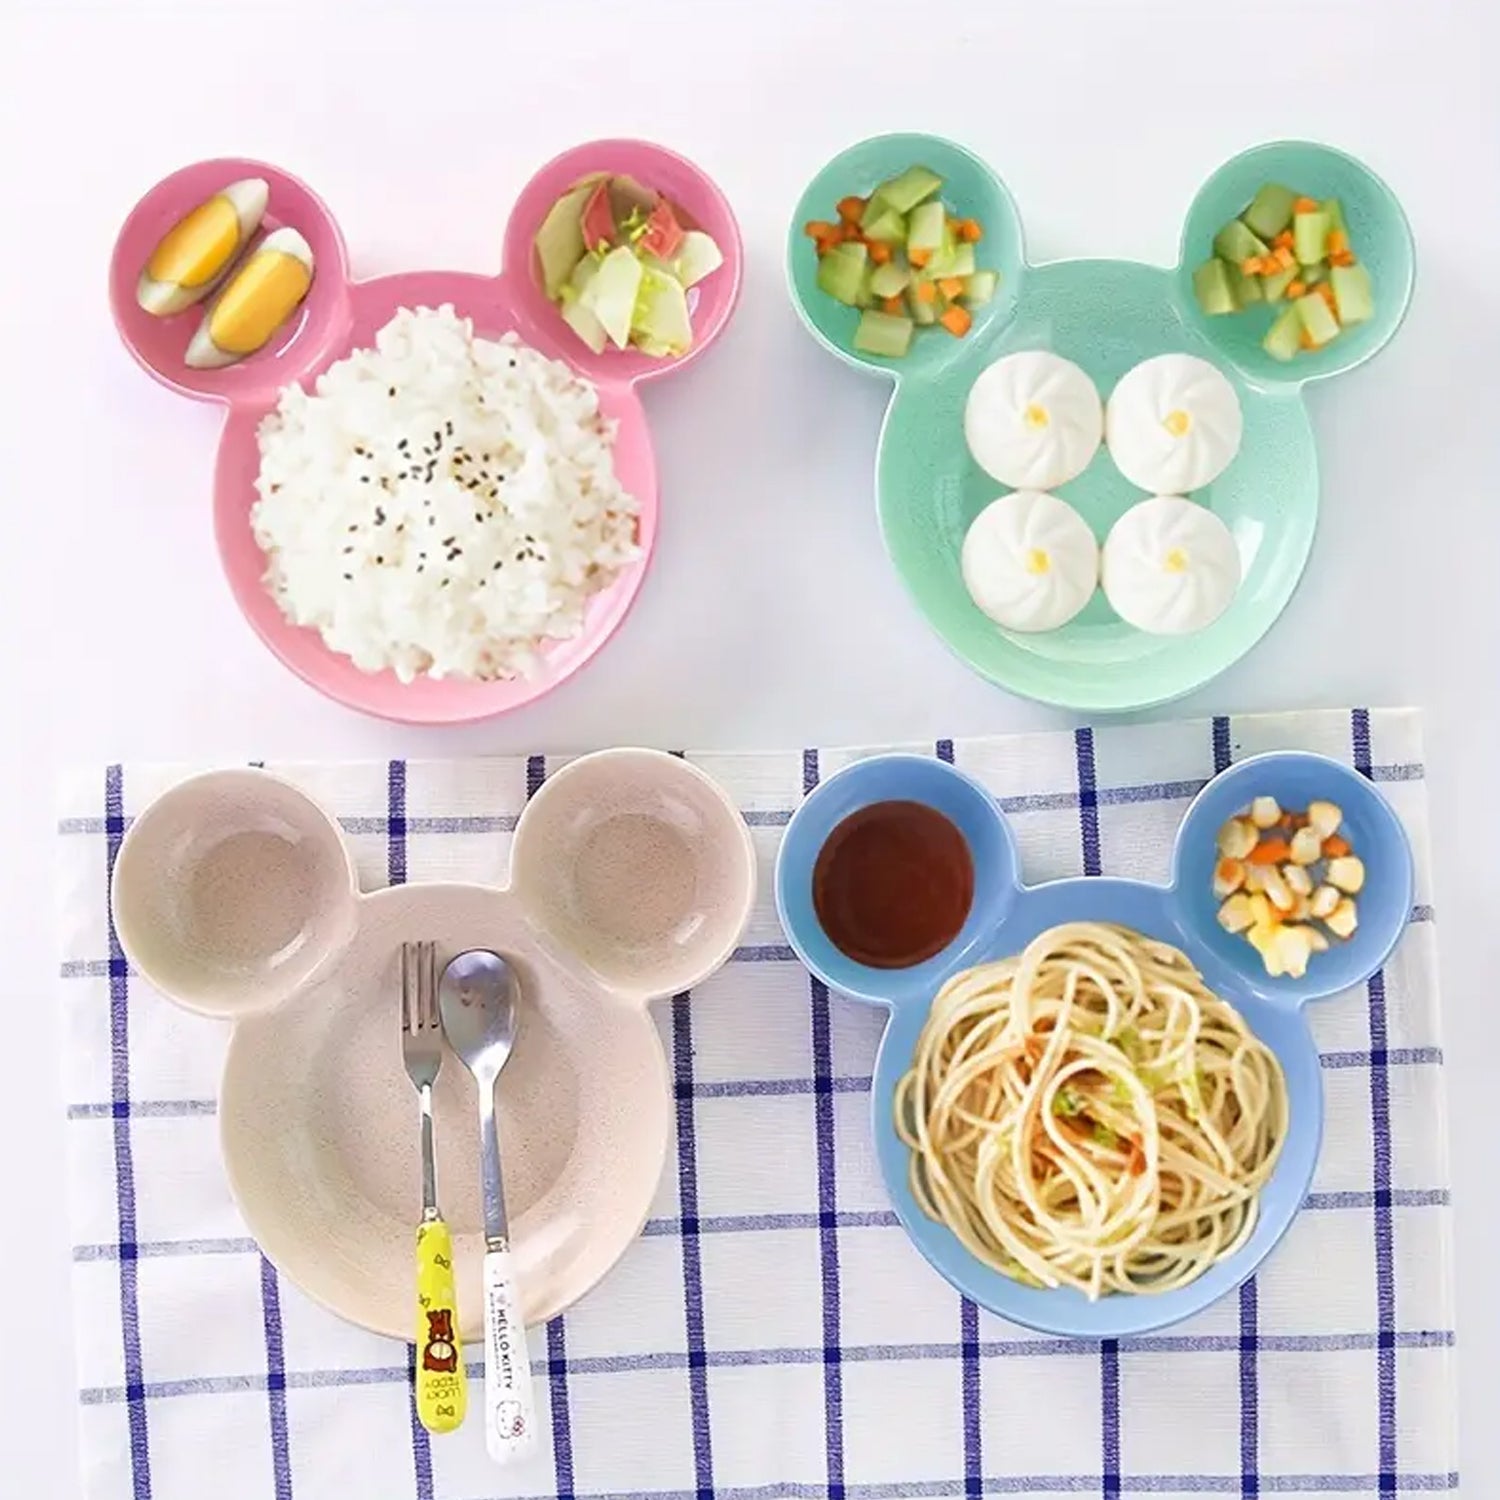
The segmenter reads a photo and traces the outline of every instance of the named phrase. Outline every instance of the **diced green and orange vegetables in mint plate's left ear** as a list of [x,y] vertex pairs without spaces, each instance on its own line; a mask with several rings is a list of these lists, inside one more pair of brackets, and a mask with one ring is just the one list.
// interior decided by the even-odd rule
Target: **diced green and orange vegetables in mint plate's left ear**
[[861,309],[854,346],[864,354],[902,358],[918,328],[962,339],[994,296],[999,272],[981,268],[974,249],[984,228],[950,214],[940,192],[936,172],[909,166],[868,198],[840,198],[837,220],[804,226],[818,248],[818,290]]

